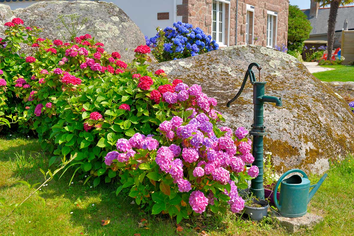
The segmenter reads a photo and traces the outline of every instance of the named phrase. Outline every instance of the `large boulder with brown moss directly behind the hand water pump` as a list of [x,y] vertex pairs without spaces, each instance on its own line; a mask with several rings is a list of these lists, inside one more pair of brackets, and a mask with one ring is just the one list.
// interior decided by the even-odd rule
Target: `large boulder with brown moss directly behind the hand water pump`
[[[267,81],[265,94],[283,99],[283,107],[264,105],[268,132],[264,149],[273,153],[279,171],[297,167],[321,173],[329,168],[328,159],[354,150],[354,115],[348,104],[289,54],[261,46],[232,46],[155,64],[150,69],[163,69],[171,79],[202,85],[208,96],[217,98],[225,125],[250,128],[250,82],[230,108],[226,103],[238,92],[252,62],[262,66],[261,81]],[[258,79],[258,70],[254,69]]]

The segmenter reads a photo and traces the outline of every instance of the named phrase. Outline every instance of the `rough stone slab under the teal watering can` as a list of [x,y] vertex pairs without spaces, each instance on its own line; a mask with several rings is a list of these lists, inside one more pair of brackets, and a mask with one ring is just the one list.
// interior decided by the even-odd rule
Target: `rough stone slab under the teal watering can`
[[323,218],[319,215],[315,215],[312,213],[307,213],[302,217],[288,218],[282,217],[278,213],[273,211],[271,213],[271,216],[275,217],[279,221],[280,225],[283,226],[289,233],[295,233],[297,230],[302,228],[313,228],[313,226],[323,220]]

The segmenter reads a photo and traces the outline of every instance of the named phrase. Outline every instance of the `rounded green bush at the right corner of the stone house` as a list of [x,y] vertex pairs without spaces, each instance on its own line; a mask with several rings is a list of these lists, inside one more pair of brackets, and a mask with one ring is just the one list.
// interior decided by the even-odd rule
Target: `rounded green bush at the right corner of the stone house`
[[312,30],[307,16],[298,6],[289,5],[288,49],[302,52],[303,41],[309,38]]

